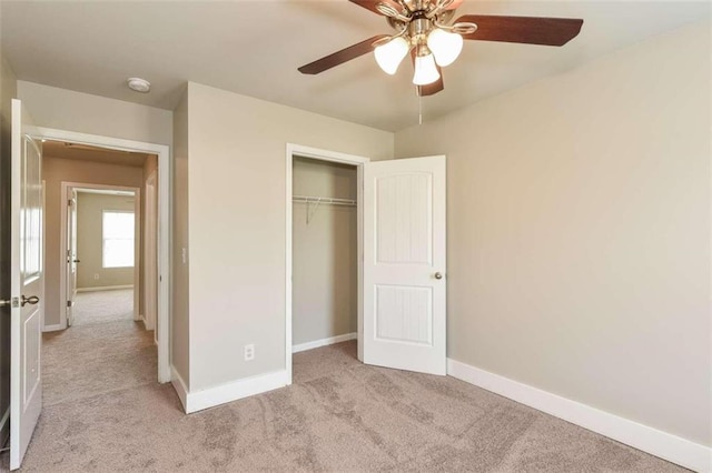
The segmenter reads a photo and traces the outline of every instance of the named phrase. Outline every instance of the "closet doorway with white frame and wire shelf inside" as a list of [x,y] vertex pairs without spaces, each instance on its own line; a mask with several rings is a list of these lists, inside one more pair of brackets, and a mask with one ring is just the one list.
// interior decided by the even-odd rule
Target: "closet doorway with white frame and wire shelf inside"
[[[293,353],[358,339],[362,165],[367,158],[287,147],[286,366]],[[360,360],[360,340],[357,342]]]

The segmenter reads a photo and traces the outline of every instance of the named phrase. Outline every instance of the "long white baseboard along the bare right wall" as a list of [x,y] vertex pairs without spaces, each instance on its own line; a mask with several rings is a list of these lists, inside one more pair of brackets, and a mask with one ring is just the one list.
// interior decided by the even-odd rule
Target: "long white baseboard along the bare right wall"
[[498,374],[447,360],[447,374],[698,472],[712,472],[712,449]]

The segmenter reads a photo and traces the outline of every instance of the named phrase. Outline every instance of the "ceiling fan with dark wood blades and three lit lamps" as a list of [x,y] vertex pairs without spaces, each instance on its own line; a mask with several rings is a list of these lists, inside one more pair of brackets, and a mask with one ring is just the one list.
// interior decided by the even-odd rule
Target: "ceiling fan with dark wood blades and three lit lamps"
[[395,74],[411,53],[418,95],[443,90],[442,69],[452,64],[463,48],[463,40],[564,46],[581,31],[583,20],[570,18],[501,17],[464,14],[453,21],[463,0],[349,0],[386,17],[395,34],[377,34],[333,54],[317,59],[298,70],[318,74],[338,64],[374,51],[376,62]]

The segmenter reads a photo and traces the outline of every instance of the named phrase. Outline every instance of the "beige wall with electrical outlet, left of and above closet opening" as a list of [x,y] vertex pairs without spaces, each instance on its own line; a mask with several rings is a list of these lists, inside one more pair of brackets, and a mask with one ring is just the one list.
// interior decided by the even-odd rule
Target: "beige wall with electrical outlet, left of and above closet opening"
[[188,97],[194,391],[285,369],[286,144],[387,159],[393,133],[192,82]]

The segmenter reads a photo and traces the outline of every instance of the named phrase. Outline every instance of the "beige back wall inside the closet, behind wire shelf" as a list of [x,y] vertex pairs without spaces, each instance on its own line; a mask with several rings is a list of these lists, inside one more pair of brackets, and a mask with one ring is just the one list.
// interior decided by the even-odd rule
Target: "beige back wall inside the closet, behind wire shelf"
[[[295,195],[356,199],[356,168],[294,160]],[[314,204],[309,204],[314,209]],[[356,208],[323,204],[307,223],[307,204],[293,204],[293,343],[357,330]]]

